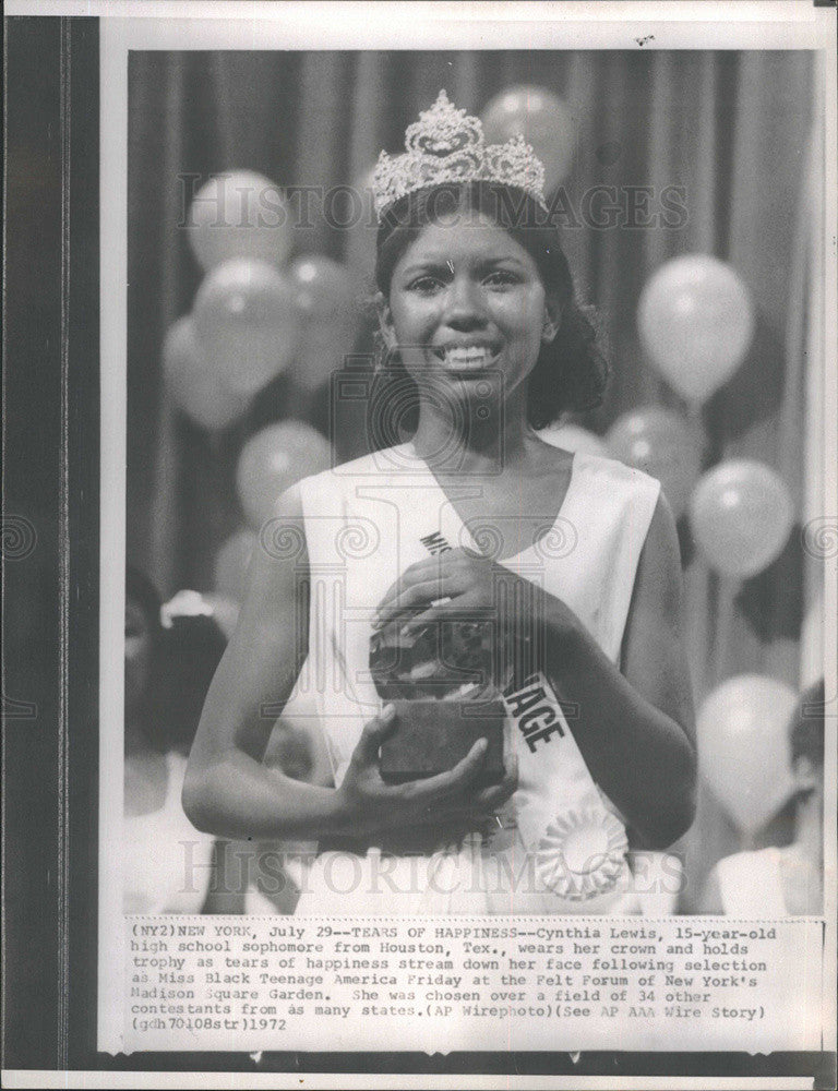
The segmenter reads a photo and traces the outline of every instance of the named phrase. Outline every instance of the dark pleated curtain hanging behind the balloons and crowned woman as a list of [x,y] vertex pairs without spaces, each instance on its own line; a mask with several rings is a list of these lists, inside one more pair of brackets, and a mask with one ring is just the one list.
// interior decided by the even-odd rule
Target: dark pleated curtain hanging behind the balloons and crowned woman
[[[232,468],[242,439],[272,416],[294,411],[283,407],[280,383],[270,405],[211,439],[168,404],[163,338],[190,309],[201,278],[182,228],[184,192],[235,169],[260,171],[282,185],[358,183],[380,148],[402,149],[405,127],[440,87],[474,113],[512,84],[561,95],[578,119],[564,182],[575,209],[597,184],[654,187],[656,193],[683,187],[689,216],[678,229],[565,230],[578,295],[599,311],[614,367],[606,404],[578,422],[602,432],[632,407],[680,406],[644,360],[638,295],[668,257],[715,254],[750,286],[758,320],[741,371],[705,407],[708,460],[761,458],[783,476],[802,506],[810,55],[134,52],[129,76],[128,541],[131,559],[164,594],[211,588],[215,551],[240,525]],[[184,181],[189,176],[197,181]],[[653,208],[660,206],[654,202]],[[321,217],[297,232],[296,253],[357,266],[363,239]],[[306,412],[311,418],[314,410]],[[780,561],[738,589],[731,604],[725,597],[733,592],[693,555],[684,532],[697,700],[717,681],[744,671],[797,686],[798,541],[792,536]],[[731,611],[719,662],[714,627]],[[707,865],[738,848],[734,830],[708,798],[685,848],[689,907]]]

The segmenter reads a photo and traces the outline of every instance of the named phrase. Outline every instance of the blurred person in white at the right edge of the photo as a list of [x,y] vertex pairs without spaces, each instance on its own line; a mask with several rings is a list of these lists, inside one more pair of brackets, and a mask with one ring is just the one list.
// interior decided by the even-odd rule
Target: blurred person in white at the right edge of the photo
[[802,695],[789,724],[793,839],[720,860],[705,913],[770,919],[818,915],[824,904],[824,682]]

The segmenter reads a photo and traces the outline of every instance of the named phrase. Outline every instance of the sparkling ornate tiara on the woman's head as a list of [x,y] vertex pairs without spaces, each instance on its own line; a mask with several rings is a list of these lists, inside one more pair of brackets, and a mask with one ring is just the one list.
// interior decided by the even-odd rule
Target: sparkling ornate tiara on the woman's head
[[372,176],[379,221],[396,201],[444,182],[500,182],[523,190],[547,212],[544,168],[518,133],[505,144],[487,144],[479,118],[458,110],[441,91],[429,110],[407,127],[405,154],[382,152]]

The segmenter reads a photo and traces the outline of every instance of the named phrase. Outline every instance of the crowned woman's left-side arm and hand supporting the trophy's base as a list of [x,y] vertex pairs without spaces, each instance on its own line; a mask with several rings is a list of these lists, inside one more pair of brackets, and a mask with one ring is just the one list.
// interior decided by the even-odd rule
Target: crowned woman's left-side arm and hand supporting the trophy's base
[[367,724],[339,788],[302,783],[262,764],[309,642],[308,603],[298,609],[309,571],[298,490],[283,496],[277,517],[299,538],[301,549],[282,558],[268,555],[261,546],[254,550],[239,625],[210,686],[189,757],[183,808],[190,822],[223,837],[318,840],[415,825],[463,806],[479,810],[502,803],[514,790],[514,770],[496,788],[468,792],[482,763],[481,743],[448,772],[386,784],[379,774],[378,752],[393,726],[392,710]]

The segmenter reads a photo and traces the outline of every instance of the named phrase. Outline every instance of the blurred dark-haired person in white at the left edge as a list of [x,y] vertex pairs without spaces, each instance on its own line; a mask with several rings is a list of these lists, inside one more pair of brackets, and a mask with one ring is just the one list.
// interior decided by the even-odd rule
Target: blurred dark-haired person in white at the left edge
[[182,592],[163,607],[135,568],[125,578],[123,910],[199,913],[214,839],[183,814],[185,755],[226,638],[212,607]]

